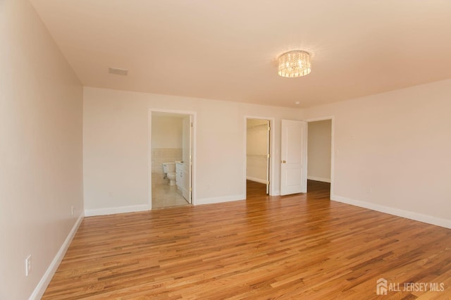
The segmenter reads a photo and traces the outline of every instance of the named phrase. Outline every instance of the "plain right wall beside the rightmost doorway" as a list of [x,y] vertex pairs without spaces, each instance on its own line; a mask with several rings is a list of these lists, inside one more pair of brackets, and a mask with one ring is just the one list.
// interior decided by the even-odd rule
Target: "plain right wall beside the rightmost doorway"
[[304,111],[334,116],[332,198],[451,227],[451,80]]

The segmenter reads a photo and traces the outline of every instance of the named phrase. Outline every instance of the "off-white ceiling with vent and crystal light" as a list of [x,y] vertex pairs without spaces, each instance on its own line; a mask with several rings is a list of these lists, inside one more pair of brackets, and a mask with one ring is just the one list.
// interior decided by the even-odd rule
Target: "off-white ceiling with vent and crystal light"
[[[89,87],[308,107],[451,78],[450,0],[30,2]],[[292,49],[309,75],[277,75]]]

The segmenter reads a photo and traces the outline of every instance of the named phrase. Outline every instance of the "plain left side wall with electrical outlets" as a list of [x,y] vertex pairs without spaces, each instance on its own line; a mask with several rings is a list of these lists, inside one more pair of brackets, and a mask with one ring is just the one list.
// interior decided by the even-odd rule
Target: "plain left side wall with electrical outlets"
[[0,299],[28,299],[83,211],[82,87],[29,1],[0,9]]

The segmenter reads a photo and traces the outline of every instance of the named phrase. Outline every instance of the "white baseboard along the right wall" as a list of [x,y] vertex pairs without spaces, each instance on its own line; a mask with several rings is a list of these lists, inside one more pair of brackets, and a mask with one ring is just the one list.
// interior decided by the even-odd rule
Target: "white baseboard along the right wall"
[[397,215],[398,217],[407,218],[410,220],[416,220],[423,223],[428,223],[431,225],[437,225],[440,227],[451,229],[451,220],[436,218],[432,215],[424,215],[422,213],[414,213],[413,211],[404,211],[403,209],[393,208],[389,206],[382,206],[378,204],[373,204],[370,202],[359,201],[354,199],[349,199],[342,196],[331,195],[330,200],[342,202],[345,204],[351,204],[354,206],[359,206],[363,208],[368,208],[373,211],[380,211],[381,213],[388,213],[390,215]]

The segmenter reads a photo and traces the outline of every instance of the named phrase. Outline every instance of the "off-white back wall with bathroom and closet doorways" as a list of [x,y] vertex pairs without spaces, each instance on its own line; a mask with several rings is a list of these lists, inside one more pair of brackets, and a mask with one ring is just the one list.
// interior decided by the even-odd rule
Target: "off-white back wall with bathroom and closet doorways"
[[[89,213],[148,205],[149,108],[195,113],[194,204],[245,199],[245,115],[275,118],[275,145],[280,145],[280,118],[299,120],[300,115],[292,108],[85,87],[84,193]],[[278,161],[280,149],[275,152]],[[280,165],[275,167],[274,184],[280,190]]]

